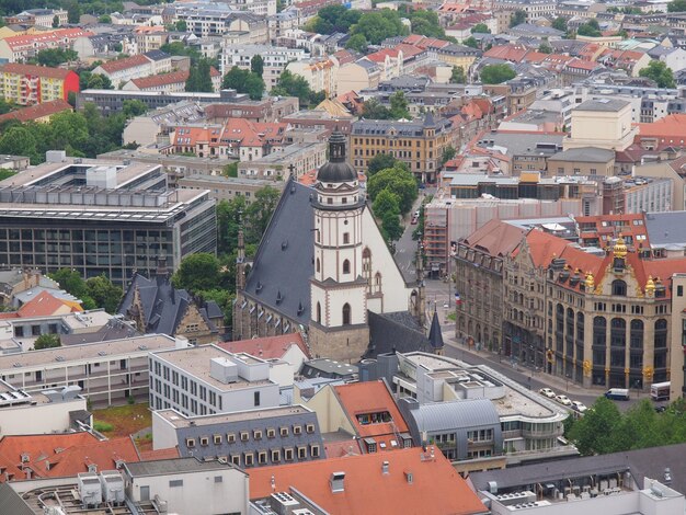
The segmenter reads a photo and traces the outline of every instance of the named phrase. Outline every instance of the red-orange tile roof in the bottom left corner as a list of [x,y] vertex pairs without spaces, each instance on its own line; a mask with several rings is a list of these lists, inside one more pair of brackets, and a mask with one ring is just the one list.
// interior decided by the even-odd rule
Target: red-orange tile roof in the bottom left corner
[[[23,460],[22,456],[26,459]],[[90,433],[59,435],[4,436],[0,440],[0,470],[10,479],[59,478],[88,472],[89,465],[98,471],[113,470],[117,461],[140,461],[132,438],[113,438],[100,442]],[[0,474],[0,482],[5,474]]]

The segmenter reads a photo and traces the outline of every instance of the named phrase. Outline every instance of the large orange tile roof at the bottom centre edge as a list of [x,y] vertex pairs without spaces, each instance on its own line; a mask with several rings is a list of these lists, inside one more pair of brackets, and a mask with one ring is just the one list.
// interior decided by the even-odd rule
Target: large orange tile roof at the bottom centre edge
[[[388,461],[387,474],[381,473],[384,461]],[[293,487],[332,515],[488,513],[441,451],[424,458],[420,447],[260,467],[248,472],[250,499],[270,496],[273,481],[276,492]],[[345,472],[343,492],[331,492],[333,472]],[[408,474],[412,476],[411,483]]]

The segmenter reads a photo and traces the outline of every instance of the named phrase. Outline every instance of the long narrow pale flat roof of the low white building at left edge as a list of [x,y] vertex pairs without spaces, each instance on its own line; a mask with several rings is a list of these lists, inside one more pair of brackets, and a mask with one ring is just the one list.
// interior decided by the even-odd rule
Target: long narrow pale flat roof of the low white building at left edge
[[14,353],[0,356],[0,373],[12,374],[12,370],[21,368],[53,367],[54,365],[66,367],[70,366],[71,362],[89,359],[115,360],[118,359],[118,356],[136,352],[165,351],[174,348],[175,345],[175,340],[165,334],[147,334],[107,342]]

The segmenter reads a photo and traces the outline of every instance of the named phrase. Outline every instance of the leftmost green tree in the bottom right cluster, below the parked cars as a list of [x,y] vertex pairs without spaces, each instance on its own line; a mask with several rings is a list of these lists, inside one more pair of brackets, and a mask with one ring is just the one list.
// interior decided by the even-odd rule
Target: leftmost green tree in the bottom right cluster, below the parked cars
[[607,454],[616,446],[615,430],[621,423],[621,414],[615,403],[601,397],[570,431],[570,438],[582,456]]

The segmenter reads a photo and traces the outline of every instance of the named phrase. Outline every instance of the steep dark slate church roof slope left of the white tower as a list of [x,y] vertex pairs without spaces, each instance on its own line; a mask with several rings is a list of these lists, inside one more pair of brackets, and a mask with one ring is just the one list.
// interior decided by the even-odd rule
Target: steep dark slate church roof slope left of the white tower
[[288,180],[262,237],[244,295],[302,325],[310,322],[315,274],[313,191]]

